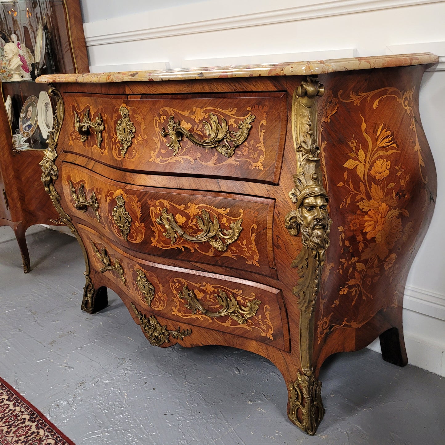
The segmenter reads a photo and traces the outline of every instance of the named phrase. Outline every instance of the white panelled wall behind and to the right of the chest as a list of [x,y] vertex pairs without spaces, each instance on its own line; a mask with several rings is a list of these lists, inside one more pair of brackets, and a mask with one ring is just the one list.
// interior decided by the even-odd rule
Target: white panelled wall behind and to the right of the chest
[[81,4],[95,72],[423,51],[441,56],[425,73],[420,94],[437,203],[405,290],[404,329],[410,363],[445,376],[445,2],[170,0],[162,9],[154,1],[125,0],[127,15],[121,0]]

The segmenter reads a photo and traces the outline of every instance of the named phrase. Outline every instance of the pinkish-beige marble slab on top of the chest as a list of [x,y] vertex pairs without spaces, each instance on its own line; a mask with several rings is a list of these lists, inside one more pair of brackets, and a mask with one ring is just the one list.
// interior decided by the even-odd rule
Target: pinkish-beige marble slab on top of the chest
[[172,81],[190,79],[217,79],[227,77],[301,76],[325,74],[354,69],[388,68],[436,63],[432,53],[396,54],[390,56],[352,57],[319,61],[270,63],[259,65],[218,66],[186,69],[158,69],[120,73],[45,74],[37,77],[38,83],[49,82],[136,82]]

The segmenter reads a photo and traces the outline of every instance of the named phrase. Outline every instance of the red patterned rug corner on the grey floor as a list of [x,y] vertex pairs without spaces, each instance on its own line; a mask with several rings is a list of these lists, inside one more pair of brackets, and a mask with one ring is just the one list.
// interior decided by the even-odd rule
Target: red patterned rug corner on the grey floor
[[0,445],[75,445],[0,377]]

